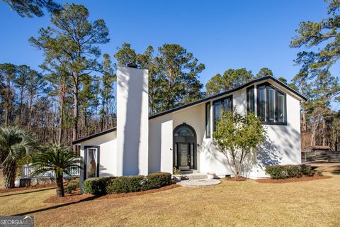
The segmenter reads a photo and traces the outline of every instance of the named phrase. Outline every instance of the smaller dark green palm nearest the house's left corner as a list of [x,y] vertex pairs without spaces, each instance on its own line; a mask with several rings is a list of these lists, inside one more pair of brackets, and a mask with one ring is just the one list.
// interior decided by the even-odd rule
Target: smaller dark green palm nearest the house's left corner
[[67,147],[60,145],[51,145],[45,152],[37,153],[32,157],[32,165],[35,167],[33,176],[45,172],[54,171],[57,183],[57,197],[64,196],[64,185],[62,184],[62,175],[70,175],[69,170],[72,167],[82,169],[82,161],[77,153]]

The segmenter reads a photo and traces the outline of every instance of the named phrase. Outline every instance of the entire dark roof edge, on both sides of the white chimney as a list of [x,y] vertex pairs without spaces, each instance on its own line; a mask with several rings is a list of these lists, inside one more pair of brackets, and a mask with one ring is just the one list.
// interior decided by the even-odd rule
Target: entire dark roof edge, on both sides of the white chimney
[[[290,92],[292,92],[293,94],[299,96],[302,100],[307,101],[307,98],[306,98],[305,96],[303,96],[303,95],[300,94],[299,92],[296,92],[294,89],[292,89],[291,87],[289,87],[287,84],[284,84],[283,82],[280,82],[280,80],[276,79],[275,77],[266,76],[266,77],[261,77],[261,78],[259,78],[259,79],[254,79],[254,80],[252,80],[251,82],[248,82],[248,83],[246,83],[246,84],[242,84],[241,86],[239,86],[239,87],[237,87],[237,88],[234,88],[234,89],[230,89],[229,91],[221,92],[221,93],[219,93],[219,94],[214,94],[214,95],[208,96],[208,97],[206,97],[206,98],[204,98],[204,99],[200,99],[200,100],[197,100],[197,101],[193,101],[193,102],[191,102],[190,104],[185,104],[185,105],[183,105],[183,106],[175,107],[174,109],[169,109],[169,110],[164,111],[164,112],[162,112],[162,113],[154,114],[154,115],[152,115],[152,116],[149,116],[149,120],[150,120],[150,119],[153,119],[153,118],[157,118],[157,117],[159,117],[159,116],[163,116],[163,115],[165,115],[165,114],[170,114],[170,113],[172,113],[172,112],[174,112],[174,111],[179,111],[179,110],[181,110],[181,109],[186,109],[186,108],[188,108],[188,107],[190,107],[190,106],[194,106],[194,105],[196,105],[196,104],[200,104],[200,103],[203,103],[203,102],[205,102],[205,101],[209,101],[209,100],[211,100],[211,99],[215,99],[215,98],[218,98],[218,97],[220,97],[220,96],[224,96],[224,95],[229,94],[229,93],[232,93],[232,92],[236,92],[236,91],[239,90],[239,89],[243,89],[244,87],[249,87],[251,84],[255,84],[255,83],[257,83],[257,82],[261,82],[261,81],[264,81],[264,80],[267,80],[267,79],[273,80],[273,82],[276,82],[277,84],[279,84],[280,86],[284,87],[285,89],[288,89],[288,91],[290,91]],[[100,133],[96,133],[96,134],[93,134],[93,135],[86,136],[86,137],[84,137],[84,138],[80,138],[80,139],[78,139],[78,140],[74,140],[74,141],[72,142],[72,144],[81,143],[81,142],[84,142],[84,141],[89,140],[89,139],[91,139],[91,138],[96,138],[96,137],[98,137],[98,136],[100,136],[100,135],[105,135],[105,134],[107,134],[107,133],[111,133],[111,132],[116,131],[116,130],[117,130],[117,127],[115,127],[115,128],[110,128],[110,129],[108,129],[108,130],[106,130],[106,131],[102,131],[102,132],[100,132]]]

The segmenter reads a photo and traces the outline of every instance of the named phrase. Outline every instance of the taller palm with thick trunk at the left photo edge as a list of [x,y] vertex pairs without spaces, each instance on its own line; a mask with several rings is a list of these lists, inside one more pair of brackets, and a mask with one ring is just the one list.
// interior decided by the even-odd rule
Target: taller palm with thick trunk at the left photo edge
[[0,165],[3,167],[5,188],[14,187],[18,160],[32,153],[35,148],[32,134],[18,127],[0,127]]

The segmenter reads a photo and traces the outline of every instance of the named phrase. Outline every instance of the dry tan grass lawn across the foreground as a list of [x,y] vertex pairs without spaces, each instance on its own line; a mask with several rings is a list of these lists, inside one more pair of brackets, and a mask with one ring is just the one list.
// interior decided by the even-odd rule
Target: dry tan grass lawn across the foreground
[[71,204],[43,201],[55,189],[0,194],[0,215],[35,226],[340,226],[340,175],[285,184],[222,180],[213,187]]

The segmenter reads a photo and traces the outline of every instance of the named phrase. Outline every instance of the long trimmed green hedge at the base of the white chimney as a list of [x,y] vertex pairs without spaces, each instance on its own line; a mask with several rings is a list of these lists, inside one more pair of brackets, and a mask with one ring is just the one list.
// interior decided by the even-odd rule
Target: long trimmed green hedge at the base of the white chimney
[[147,176],[98,177],[86,179],[84,192],[90,194],[113,194],[158,189],[171,184],[169,172],[156,172]]

